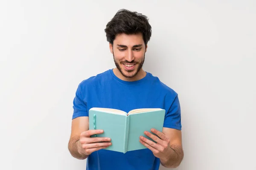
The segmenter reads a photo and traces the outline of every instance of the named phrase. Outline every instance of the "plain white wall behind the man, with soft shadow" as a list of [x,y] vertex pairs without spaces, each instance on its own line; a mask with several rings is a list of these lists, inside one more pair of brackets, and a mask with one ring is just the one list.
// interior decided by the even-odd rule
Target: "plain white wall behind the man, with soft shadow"
[[120,8],[149,17],[144,69],[179,94],[177,170],[256,170],[255,0],[0,1],[0,169],[85,169],[67,150],[73,97],[114,67]]

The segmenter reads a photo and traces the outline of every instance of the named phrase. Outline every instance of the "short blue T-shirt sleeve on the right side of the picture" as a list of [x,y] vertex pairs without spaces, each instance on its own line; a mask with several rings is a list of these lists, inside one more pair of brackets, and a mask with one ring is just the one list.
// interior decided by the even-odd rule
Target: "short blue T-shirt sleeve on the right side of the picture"
[[[170,101],[165,101],[170,102]],[[171,106],[167,110],[163,127],[169,127],[177,130],[181,130],[181,113],[180,113],[180,102],[178,95],[175,96]]]

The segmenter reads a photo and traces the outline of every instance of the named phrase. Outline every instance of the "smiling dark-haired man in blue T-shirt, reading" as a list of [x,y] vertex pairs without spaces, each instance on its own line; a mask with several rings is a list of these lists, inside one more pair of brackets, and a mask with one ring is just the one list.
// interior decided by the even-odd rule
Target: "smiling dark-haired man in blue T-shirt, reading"
[[[68,148],[73,157],[87,158],[87,170],[158,170],[177,167],[183,159],[180,103],[177,93],[142,68],[151,37],[146,16],[119,10],[105,28],[116,68],[82,81],[73,101]],[[131,111],[136,108],[166,110],[162,132],[151,129],[138,139],[147,149],[119,153],[104,148],[111,139],[90,138],[102,130],[89,130],[88,111],[93,107]],[[143,135],[143,134],[142,134]]]

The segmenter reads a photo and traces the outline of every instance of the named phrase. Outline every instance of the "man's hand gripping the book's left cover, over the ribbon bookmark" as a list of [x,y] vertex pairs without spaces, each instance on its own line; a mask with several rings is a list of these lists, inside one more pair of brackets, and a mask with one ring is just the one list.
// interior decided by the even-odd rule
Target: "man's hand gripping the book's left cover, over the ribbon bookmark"
[[[79,151],[85,155],[90,155],[96,150],[104,149],[111,145],[111,139],[107,137],[93,137],[95,134],[101,134],[103,130],[87,130],[81,133],[79,140]],[[80,150],[81,149],[81,150]]]

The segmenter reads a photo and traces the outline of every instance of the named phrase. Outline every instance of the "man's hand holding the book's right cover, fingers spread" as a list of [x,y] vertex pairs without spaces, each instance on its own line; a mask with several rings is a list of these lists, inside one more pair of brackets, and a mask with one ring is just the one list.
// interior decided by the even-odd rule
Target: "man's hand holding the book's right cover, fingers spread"
[[153,132],[156,135],[153,135],[152,133],[145,131],[145,135],[153,139],[155,142],[140,136],[140,143],[142,143],[145,147],[150,149],[154,156],[160,159],[166,159],[168,158],[169,155],[169,150],[170,148],[170,139],[163,134],[162,132],[156,130],[156,129],[151,129],[151,132]]

